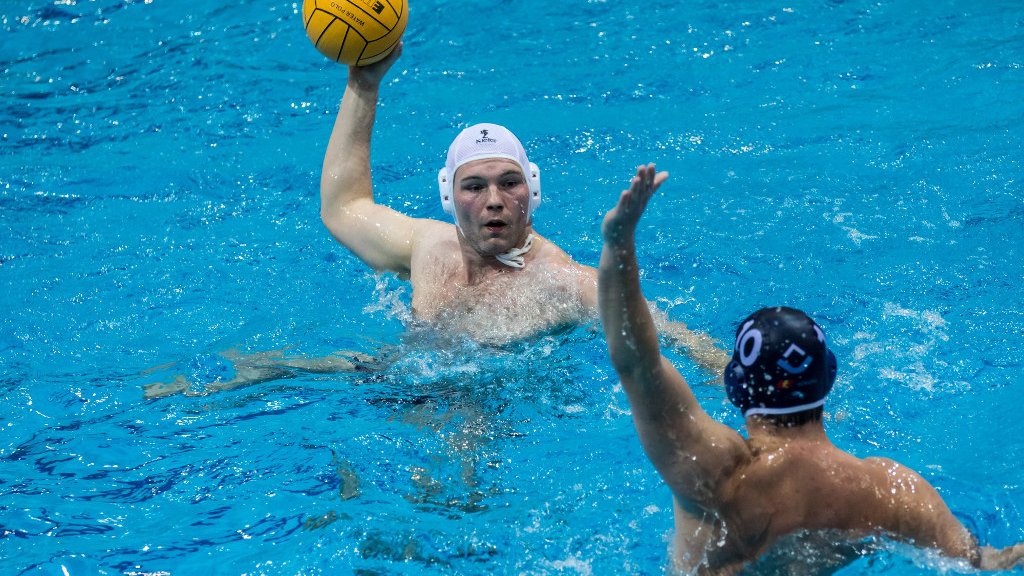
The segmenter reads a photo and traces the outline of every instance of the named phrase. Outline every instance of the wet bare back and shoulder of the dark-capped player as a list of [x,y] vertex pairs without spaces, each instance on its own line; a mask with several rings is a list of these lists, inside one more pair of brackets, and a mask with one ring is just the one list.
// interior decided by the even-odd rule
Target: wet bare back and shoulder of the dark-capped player
[[[836,534],[848,541],[884,534],[954,556],[973,549],[973,539],[935,490],[909,468],[839,450],[820,425],[787,436],[756,435],[746,442],[750,459],[718,487],[715,510],[676,506],[681,568],[733,573],[801,532],[829,532],[818,543],[828,548],[843,543]],[[808,542],[813,539],[802,545]]]

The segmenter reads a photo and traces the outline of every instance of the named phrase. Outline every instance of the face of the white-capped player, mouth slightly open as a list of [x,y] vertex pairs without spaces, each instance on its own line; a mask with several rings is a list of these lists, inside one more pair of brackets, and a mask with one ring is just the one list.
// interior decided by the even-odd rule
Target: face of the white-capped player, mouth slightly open
[[529,186],[519,165],[504,158],[474,160],[455,173],[453,194],[463,235],[496,255],[521,245],[529,228]]

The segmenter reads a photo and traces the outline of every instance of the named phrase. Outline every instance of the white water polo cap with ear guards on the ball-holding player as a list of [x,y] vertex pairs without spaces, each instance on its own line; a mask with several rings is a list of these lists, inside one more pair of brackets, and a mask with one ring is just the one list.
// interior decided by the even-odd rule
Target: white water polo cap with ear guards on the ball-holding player
[[[437,172],[437,188],[441,194],[444,212],[455,215],[452,192],[455,172],[463,164],[474,160],[505,158],[519,165],[526,183],[529,186],[529,208],[527,215],[532,218],[534,210],[541,205],[541,170],[526,158],[526,151],[515,134],[498,124],[476,124],[466,128],[456,136],[449,147],[444,167]],[[458,221],[456,222],[458,225]]]

